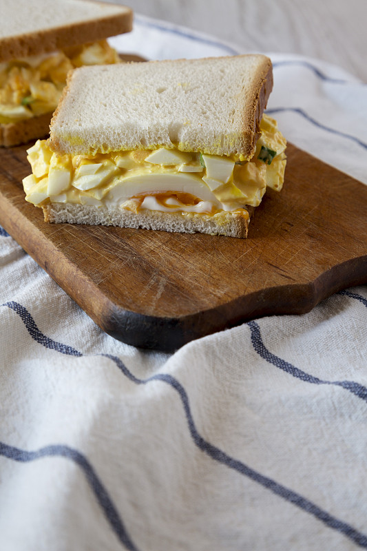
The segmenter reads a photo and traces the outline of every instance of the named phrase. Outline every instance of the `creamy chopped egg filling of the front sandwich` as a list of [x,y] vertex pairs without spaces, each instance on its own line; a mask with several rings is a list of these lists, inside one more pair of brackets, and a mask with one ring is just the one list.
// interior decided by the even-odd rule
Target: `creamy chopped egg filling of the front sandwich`
[[181,152],[160,147],[95,156],[58,156],[37,141],[28,149],[32,174],[23,179],[25,200],[155,210],[181,214],[240,212],[257,207],[269,186],[282,189],[286,140],[264,115],[253,158]]

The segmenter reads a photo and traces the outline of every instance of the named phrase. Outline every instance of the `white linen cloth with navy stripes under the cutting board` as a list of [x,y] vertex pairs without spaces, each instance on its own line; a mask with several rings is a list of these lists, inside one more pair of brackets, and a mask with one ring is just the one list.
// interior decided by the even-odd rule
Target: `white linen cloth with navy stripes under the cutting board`
[[[240,53],[143,17],[112,43]],[[366,85],[270,56],[286,138],[367,183]],[[365,286],[147,352],[105,335],[0,234],[1,550],[367,548]]]

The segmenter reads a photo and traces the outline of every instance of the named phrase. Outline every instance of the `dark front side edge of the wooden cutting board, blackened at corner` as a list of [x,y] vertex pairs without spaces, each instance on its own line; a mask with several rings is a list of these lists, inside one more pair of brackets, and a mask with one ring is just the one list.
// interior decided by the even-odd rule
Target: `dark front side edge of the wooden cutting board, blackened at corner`
[[191,340],[230,329],[254,318],[308,313],[337,291],[364,283],[367,283],[367,256],[348,260],[324,271],[310,284],[271,287],[182,318],[142,315],[111,303],[100,326],[126,344],[174,352]]

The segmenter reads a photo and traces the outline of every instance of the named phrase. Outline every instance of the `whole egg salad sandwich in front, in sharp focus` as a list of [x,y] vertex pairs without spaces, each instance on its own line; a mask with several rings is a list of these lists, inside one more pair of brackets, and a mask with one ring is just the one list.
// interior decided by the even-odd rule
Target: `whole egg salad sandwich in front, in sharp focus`
[[76,69],[28,149],[25,199],[47,222],[247,237],[284,180],[272,85],[255,54]]

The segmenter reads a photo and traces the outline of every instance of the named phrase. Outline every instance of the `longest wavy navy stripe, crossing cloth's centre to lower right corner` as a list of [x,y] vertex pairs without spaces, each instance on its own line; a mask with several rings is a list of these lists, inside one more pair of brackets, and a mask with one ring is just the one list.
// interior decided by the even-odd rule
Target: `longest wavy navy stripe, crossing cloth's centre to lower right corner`
[[[78,354],[82,355],[81,353]],[[112,362],[116,364],[123,375],[125,375],[125,377],[127,377],[135,384],[147,384],[151,381],[158,380],[165,382],[166,384],[169,384],[169,386],[174,388],[181,399],[182,406],[185,410],[187,424],[189,426],[189,432],[194,443],[200,450],[202,450],[203,453],[206,453],[209,457],[211,457],[211,459],[214,459],[215,461],[218,461],[219,463],[224,464],[225,466],[233,470],[236,470],[241,475],[249,477],[251,480],[257,482],[261,486],[264,486],[264,488],[271,490],[271,492],[273,492],[275,495],[278,495],[286,501],[293,503],[293,505],[299,507],[305,512],[312,514],[316,519],[324,523],[329,528],[333,528],[334,530],[341,532],[346,537],[357,543],[357,545],[367,548],[367,536],[359,532],[358,530],[355,530],[353,526],[350,526],[349,524],[337,519],[336,517],[333,517],[331,514],[315,505],[315,503],[313,503],[312,501],[309,501],[308,499],[302,497],[302,495],[297,494],[297,492],[293,492],[293,490],[286,488],[286,486],[282,486],[282,484],[278,484],[273,479],[261,475],[260,472],[257,472],[242,463],[241,461],[230,457],[222,450],[206,441],[196,429],[189,406],[189,397],[187,396],[185,388],[183,388],[183,386],[174,377],[172,377],[171,375],[160,373],[157,375],[153,375],[152,377],[149,377],[147,379],[139,379],[138,377],[135,377],[135,375],[133,375],[131,371],[129,371],[129,369],[127,369],[125,364],[123,364],[123,362],[118,357],[110,354],[100,355],[108,357],[110,360],[112,360]]]

